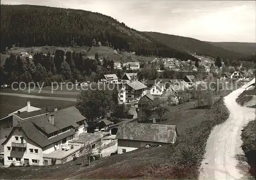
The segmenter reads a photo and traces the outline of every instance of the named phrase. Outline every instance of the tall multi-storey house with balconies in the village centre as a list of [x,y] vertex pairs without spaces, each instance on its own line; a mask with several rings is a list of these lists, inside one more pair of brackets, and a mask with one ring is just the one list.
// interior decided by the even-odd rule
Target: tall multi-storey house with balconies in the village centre
[[125,100],[126,103],[133,103],[146,95],[146,88],[140,81],[129,82],[125,84]]

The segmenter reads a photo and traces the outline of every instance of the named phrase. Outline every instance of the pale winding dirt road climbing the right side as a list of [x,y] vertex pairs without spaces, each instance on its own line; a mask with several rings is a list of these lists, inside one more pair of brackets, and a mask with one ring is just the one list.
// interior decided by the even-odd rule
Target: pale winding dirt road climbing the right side
[[230,116],[223,124],[216,126],[209,136],[199,179],[241,179],[245,176],[235,157],[244,154],[241,130],[255,119],[255,109],[238,105],[236,98],[253,82],[255,79],[225,97]]

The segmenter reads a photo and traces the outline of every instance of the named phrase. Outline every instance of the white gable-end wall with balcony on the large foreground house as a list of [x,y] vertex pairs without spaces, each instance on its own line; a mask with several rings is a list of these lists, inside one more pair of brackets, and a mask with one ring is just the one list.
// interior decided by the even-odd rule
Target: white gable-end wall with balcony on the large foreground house
[[[18,141],[15,140],[15,137],[18,137]],[[22,151],[18,151],[18,147],[15,148],[15,151],[12,150],[12,142],[21,143],[20,137],[24,137],[24,143],[27,143],[26,152],[24,151],[24,148]],[[11,147],[10,151],[8,150],[8,147]],[[30,149],[33,149],[33,153],[30,152]],[[38,153],[35,153],[35,149],[38,150]],[[8,160],[8,156],[12,157],[13,160]],[[17,162],[15,158],[20,158],[21,161]],[[21,128],[20,131],[18,129],[14,129],[10,139],[4,145],[4,165],[10,166],[11,163],[14,163],[16,166],[19,166],[20,163],[24,162],[24,159],[29,159],[30,165],[43,165],[42,149],[36,143],[28,139]],[[32,163],[32,159],[37,160],[37,163]]]

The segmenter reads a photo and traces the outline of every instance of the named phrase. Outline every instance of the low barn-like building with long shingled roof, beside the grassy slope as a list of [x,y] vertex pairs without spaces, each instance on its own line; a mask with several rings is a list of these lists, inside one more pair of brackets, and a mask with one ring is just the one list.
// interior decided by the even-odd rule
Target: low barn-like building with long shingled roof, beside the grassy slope
[[142,147],[174,144],[177,140],[175,125],[121,123],[117,134],[118,154]]

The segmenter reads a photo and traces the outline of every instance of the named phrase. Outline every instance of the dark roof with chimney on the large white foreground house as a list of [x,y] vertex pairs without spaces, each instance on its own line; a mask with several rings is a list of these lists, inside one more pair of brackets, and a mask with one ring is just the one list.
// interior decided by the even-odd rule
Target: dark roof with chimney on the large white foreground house
[[[61,133],[56,137],[48,139],[40,129],[46,133],[51,133],[69,126],[76,128],[79,126],[76,122],[86,119],[75,107],[58,110],[50,115],[54,115],[54,125],[48,121],[49,115],[45,115],[29,118],[19,122],[14,128],[21,127],[30,140],[38,144],[40,147],[46,147],[52,143],[62,140],[63,138],[67,138],[72,134],[75,134],[75,131],[71,129],[70,131],[66,131],[65,133]],[[86,126],[88,125],[86,124]],[[9,134],[9,137],[11,134],[12,133]]]

